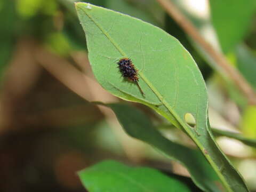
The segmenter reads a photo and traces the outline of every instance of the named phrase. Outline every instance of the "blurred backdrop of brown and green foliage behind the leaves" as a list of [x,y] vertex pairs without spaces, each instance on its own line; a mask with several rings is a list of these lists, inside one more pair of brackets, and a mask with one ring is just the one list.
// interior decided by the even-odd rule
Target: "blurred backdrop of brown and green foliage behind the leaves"
[[[110,109],[90,102],[120,100],[95,81],[74,2],[0,1],[0,190],[86,191],[76,172],[109,158],[189,177],[180,164],[128,137]],[[140,18],[178,38],[205,79],[212,127],[256,139],[255,106],[247,105],[225,72],[157,1],[86,2]],[[225,53],[255,90],[255,0],[173,3],[216,50]],[[195,148],[180,130],[165,129],[162,117],[151,109],[130,105],[145,111],[165,137]],[[250,189],[256,191],[255,149],[223,136],[217,141]]]

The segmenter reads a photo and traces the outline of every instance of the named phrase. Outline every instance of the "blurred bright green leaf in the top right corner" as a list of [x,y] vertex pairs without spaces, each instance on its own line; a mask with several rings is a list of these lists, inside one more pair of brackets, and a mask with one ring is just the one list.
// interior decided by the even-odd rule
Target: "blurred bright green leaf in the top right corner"
[[233,51],[246,35],[256,10],[255,0],[210,0],[211,18],[222,51]]

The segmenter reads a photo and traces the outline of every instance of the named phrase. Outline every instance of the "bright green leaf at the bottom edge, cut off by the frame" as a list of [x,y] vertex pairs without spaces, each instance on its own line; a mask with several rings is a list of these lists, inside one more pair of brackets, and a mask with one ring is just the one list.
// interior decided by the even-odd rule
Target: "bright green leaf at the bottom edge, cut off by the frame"
[[190,191],[182,182],[148,167],[129,167],[115,161],[104,161],[78,172],[89,191]]

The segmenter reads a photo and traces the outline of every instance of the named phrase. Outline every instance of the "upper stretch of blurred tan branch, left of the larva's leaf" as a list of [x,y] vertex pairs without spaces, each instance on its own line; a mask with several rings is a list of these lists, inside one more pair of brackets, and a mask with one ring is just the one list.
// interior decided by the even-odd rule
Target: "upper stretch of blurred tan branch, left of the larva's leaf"
[[[47,51],[40,45],[38,45],[35,50],[35,59],[44,69],[81,98],[87,101],[117,101],[116,98],[104,90],[93,77],[88,77],[87,74],[85,75],[85,73],[79,71],[73,63],[57,54]],[[92,73],[91,69],[86,67],[87,65],[89,65],[89,62],[84,62],[83,65],[79,67],[81,67],[82,70],[85,69],[86,73]]]

